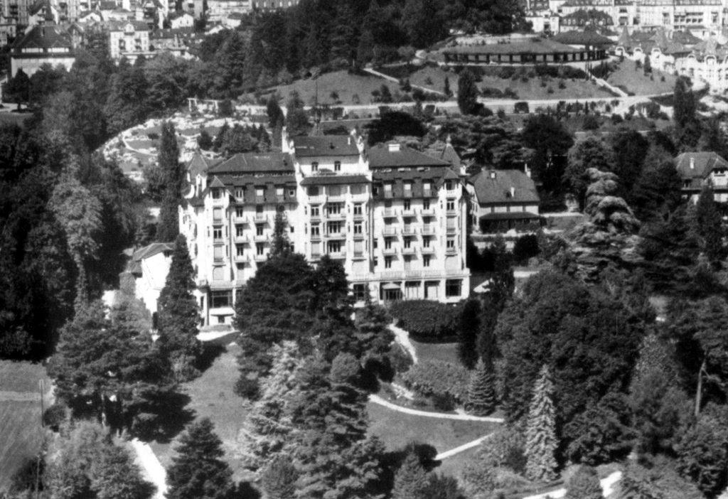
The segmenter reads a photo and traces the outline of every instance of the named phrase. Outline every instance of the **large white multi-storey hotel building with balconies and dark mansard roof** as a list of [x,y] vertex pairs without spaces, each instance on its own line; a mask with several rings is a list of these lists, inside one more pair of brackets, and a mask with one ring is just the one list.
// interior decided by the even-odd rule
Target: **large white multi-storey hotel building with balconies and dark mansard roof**
[[341,260],[357,303],[466,298],[458,168],[400,144],[366,148],[355,135],[284,134],[281,153],[196,156],[180,231],[205,324],[232,321],[237,290],[268,258],[277,210],[296,252]]

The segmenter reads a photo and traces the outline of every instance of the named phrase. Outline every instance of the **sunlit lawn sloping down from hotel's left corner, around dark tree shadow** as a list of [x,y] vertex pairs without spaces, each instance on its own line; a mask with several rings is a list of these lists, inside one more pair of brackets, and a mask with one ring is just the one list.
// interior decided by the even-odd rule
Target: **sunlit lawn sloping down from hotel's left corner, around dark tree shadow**
[[[236,480],[246,479],[240,460],[234,457],[237,434],[246,412],[243,399],[233,392],[233,385],[237,379],[239,353],[238,346],[228,346],[202,376],[186,383],[183,387],[191,399],[186,409],[194,410],[197,418],[210,418],[215,424],[215,433],[223,442],[225,459],[232,468]],[[169,443],[151,442],[154,453],[165,468],[172,463],[177,439],[178,437]]]

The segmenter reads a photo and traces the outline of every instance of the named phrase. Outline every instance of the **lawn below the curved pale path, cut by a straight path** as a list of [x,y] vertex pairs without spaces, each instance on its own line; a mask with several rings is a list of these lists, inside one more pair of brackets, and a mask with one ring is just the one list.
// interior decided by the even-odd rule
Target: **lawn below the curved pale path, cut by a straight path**
[[[497,423],[446,420],[404,414],[370,403],[369,433],[379,436],[387,450],[397,450],[410,442],[430,444],[439,452],[454,449],[495,431]],[[477,447],[443,460],[438,471],[456,476],[475,457]]]

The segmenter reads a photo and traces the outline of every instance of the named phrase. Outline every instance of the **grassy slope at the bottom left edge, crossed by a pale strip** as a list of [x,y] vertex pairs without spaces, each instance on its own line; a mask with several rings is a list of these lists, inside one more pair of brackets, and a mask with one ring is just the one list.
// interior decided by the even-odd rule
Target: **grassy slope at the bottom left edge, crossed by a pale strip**
[[[38,393],[38,380],[46,380],[45,368],[30,362],[0,361],[0,392]],[[40,427],[39,402],[17,402],[12,394],[0,394],[0,491],[25,458],[40,450],[43,431]]]

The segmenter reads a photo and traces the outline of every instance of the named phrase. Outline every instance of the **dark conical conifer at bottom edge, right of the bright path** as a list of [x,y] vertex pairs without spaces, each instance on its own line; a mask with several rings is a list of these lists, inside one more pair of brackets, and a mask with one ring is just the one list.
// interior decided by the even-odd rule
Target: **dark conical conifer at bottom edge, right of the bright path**
[[167,499],[232,498],[232,471],[222,460],[222,442],[209,419],[192,423],[175,450],[167,470]]

